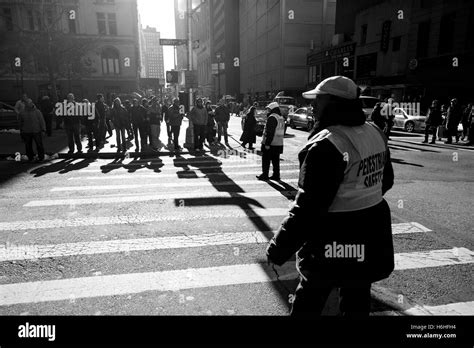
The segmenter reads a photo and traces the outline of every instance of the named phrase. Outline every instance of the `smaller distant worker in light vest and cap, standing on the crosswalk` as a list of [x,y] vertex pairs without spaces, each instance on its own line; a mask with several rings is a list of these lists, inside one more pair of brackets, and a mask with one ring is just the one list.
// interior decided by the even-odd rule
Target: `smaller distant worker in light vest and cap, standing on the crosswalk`
[[[262,136],[262,174],[258,180],[280,180],[280,155],[283,153],[283,138],[285,137],[285,119],[281,115],[278,103],[267,105],[267,123]],[[270,162],[273,165],[273,175],[268,177]]]

